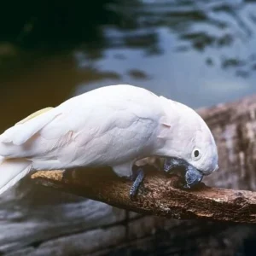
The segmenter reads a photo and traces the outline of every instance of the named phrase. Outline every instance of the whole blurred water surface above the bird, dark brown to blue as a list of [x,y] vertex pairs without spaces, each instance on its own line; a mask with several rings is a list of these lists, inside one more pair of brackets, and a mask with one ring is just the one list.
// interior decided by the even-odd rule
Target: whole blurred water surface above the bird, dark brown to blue
[[16,21],[8,11],[1,17],[2,131],[108,84],[143,86],[193,108],[256,92],[255,1],[28,2],[17,3],[26,12]]

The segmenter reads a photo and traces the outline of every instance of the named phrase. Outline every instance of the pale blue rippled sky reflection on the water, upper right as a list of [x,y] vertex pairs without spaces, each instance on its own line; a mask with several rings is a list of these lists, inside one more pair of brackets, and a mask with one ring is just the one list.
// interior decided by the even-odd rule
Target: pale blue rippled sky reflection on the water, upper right
[[[198,108],[255,92],[255,10],[255,3],[238,1],[126,5],[136,28],[107,26],[101,58],[77,54],[81,70],[114,70],[121,78],[80,84],[76,93],[131,83]],[[134,77],[134,70],[143,75]]]

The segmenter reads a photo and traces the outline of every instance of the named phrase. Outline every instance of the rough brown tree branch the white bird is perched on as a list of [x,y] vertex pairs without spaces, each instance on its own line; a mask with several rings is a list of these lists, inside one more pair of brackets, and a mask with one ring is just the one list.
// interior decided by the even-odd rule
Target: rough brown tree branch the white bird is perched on
[[256,192],[218,189],[204,183],[194,191],[176,189],[178,178],[147,172],[137,199],[131,201],[131,181],[116,177],[108,168],[73,171],[65,182],[62,171],[32,174],[38,184],[102,201],[114,207],[166,218],[256,223]]

